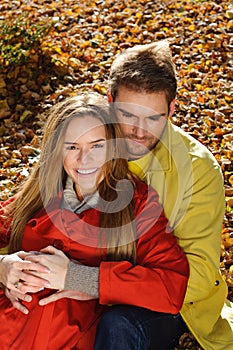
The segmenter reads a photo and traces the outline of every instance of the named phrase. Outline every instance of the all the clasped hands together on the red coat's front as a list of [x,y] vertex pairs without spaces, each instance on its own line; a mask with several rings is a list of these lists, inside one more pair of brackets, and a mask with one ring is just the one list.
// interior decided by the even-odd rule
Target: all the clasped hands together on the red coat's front
[[44,288],[54,289],[54,293],[39,301],[43,306],[61,298],[90,300],[92,296],[78,291],[64,290],[69,258],[53,246],[39,252],[18,252],[7,255],[1,262],[1,282],[5,295],[12,305],[28,314],[21,301],[30,302],[32,296]]

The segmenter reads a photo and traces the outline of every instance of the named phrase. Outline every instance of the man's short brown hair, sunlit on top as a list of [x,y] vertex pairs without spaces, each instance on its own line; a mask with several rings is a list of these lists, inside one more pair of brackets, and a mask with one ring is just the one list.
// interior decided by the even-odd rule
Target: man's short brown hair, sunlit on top
[[108,81],[113,101],[120,86],[137,92],[165,92],[170,106],[176,96],[177,80],[168,41],[136,45],[119,54]]

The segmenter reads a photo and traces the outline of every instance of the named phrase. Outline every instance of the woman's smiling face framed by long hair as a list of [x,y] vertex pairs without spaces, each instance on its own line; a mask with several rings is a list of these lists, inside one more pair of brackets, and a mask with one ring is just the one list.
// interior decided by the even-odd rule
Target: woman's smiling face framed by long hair
[[79,199],[93,193],[103,180],[106,146],[105,128],[97,118],[87,115],[69,123],[64,141],[63,166],[75,184]]

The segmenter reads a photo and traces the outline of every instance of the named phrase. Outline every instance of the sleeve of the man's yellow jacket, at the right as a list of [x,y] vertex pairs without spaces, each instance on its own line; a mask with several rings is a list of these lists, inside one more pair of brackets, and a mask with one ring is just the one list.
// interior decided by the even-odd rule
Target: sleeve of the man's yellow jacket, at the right
[[184,196],[190,202],[174,234],[190,266],[184,302],[194,303],[207,299],[222,283],[219,262],[225,197],[219,166],[197,157],[193,161],[192,188],[187,188]]

